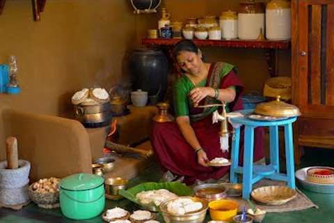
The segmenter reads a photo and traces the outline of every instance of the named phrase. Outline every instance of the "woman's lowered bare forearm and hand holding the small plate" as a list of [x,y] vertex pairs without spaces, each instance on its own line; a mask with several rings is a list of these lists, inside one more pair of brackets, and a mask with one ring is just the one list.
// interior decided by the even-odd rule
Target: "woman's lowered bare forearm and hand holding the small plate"
[[[195,152],[199,148],[202,148],[195,132],[193,131],[193,128],[190,125],[189,116],[179,116],[176,118],[176,122],[183,134],[184,139],[186,139],[189,145],[193,148],[193,151]],[[204,150],[197,152],[197,158],[199,164],[203,167],[207,167],[207,162],[209,162],[209,160],[207,159],[207,154]]]

